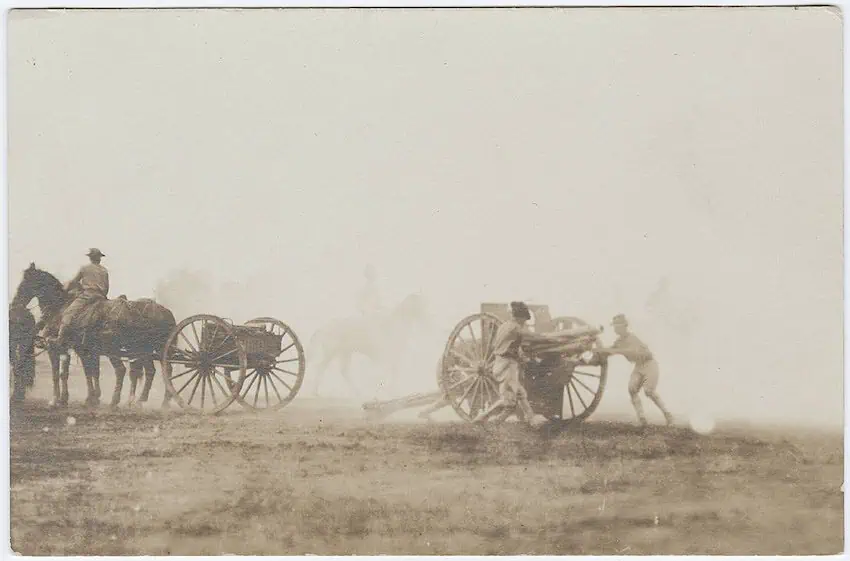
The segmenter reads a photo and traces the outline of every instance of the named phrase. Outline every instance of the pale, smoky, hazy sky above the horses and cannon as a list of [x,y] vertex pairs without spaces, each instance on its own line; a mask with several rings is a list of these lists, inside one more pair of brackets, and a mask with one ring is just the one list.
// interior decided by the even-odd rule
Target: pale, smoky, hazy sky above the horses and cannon
[[674,411],[840,421],[841,33],[792,8],[13,12],[10,282],[97,246],[115,295],[250,281],[251,311],[187,313],[308,338],[371,262],[446,333],[481,301],[630,314]]

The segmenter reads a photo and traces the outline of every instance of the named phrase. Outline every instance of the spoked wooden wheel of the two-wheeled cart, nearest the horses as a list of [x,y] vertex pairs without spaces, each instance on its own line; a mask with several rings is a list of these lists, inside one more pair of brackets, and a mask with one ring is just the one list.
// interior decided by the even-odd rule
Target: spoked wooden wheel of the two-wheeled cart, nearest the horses
[[[177,324],[162,352],[165,391],[183,409],[220,413],[245,381],[247,355],[223,319],[199,314]],[[233,373],[238,378],[233,379]]]

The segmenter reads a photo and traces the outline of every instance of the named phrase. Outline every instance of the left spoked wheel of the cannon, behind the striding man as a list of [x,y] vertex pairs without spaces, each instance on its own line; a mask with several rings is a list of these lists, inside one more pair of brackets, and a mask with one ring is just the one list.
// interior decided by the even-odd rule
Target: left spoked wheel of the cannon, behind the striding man
[[493,314],[468,316],[454,328],[443,351],[437,382],[465,421],[499,399],[499,384],[493,378],[493,343],[501,324]]

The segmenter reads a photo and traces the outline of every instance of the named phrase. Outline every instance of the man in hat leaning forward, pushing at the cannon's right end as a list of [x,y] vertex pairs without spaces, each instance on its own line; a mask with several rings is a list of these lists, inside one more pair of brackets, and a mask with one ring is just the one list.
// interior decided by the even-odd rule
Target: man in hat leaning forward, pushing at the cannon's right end
[[641,388],[643,388],[646,397],[652,400],[664,414],[667,424],[672,425],[673,415],[667,410],[661,396],[658,395],[658,362],[655,360],[652,351],[634,333],[629,331],[629,322],[623,314],[615,316],[611,325],[614,326],[614,331],[618,335],[617,340],[610,347],[600,345],[595,351],[608,355],[622,355],[623,358],[635,365],[629,380],[629,395],[641,425],[647,424],[643,404],[638,395]]

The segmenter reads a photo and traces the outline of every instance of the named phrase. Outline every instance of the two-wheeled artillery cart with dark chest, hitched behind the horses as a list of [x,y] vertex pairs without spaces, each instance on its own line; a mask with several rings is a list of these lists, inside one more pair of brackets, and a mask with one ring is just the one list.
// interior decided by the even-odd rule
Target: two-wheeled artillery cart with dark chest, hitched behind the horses
[[177,324],[162,363],[169,397],[209,414],[234,401],[251,411],[278,411],[298,394],[306,366],[301,341],[282,321],[263,317],[234,325],[208,314]]

